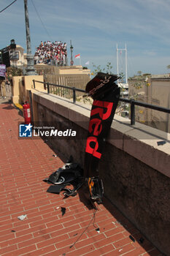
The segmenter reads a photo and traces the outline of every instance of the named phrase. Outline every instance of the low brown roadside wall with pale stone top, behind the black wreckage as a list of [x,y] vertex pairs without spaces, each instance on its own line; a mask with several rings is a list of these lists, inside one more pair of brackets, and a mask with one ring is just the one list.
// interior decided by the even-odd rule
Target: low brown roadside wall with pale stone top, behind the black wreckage
[[[63,161],[70,154],[84,165],[90,106],[32,90],[41,124],[72,127],[77,138],[48,139]],[[160,140],[166,143],[158,146]],[[170,255],[170,135],[115,115],[99,172],[104,195],[166,255]]]

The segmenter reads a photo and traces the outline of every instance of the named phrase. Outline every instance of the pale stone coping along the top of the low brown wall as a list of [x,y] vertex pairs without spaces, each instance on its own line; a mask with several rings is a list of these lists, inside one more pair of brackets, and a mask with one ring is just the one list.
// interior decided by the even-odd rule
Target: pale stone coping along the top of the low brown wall
[[[74,104],[72,99],[65,99],[54,94],[45,94],[36,90],[32,92],[36,95],[35,99],[39,104],[69,118],[70,121],[80,126],[81,121],[86,123],[82,127],[88,129],[90,105],[80,102]],[[128,118],[115,115],[107,142],[170,177],[169,133],[139,123],[131,126]],[[163,145],[158,146],[160,142],[163,142]]]

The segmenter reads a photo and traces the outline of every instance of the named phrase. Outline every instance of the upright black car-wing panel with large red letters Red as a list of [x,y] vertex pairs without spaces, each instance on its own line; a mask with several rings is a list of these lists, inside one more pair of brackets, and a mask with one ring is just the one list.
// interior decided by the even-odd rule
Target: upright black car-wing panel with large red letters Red
[[86,92],[94,101],[85,147],[85,178],[98,176],[98,163],[120,97],[120,88],[114,83],[117,78],[115,75],[98,73],[93,78],[94,83],[90,80],[90,85],[86,86]]

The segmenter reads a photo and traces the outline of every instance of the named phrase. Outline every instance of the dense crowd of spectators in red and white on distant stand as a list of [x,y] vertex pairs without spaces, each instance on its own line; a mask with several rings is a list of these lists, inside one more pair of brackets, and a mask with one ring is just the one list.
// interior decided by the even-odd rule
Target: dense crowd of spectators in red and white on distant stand
[[53,64],[56,66],[67,65],[66,42],[42,42],[36,48],[34,55],[34,64]]

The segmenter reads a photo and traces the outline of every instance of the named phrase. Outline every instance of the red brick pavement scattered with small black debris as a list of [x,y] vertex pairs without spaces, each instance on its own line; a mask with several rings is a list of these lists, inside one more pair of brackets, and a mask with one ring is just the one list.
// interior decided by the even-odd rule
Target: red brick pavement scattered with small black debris
[[[19,121],[23,117],[13,105],[0,104],[1,256],[161,255],[105,198],[93,223],[93,209],[80,200],[83,191],[67,199],[47,193],[49,184],[42,179],[63,162],[43,140],[18,139]],[[66,208],[63,217],[61,207]]]

